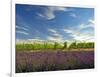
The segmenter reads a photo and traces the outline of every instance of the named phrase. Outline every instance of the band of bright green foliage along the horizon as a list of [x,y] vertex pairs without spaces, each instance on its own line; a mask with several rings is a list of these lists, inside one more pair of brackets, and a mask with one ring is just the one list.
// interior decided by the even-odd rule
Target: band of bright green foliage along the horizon
[[63,45],[55,42],[53,43],[19,43],[16,44],[16,50],[40,50],[40,49],[86,49],[94,48],[94,42],[72,42],[69,46],[67,42],[64,42]]

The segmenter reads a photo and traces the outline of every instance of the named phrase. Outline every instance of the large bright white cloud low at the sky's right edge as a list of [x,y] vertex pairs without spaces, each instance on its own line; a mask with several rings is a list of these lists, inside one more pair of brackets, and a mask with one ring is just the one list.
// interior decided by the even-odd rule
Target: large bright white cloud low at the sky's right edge
[[[76,28],[76,30],[75,30]],[[94,34],[90,32],[88,29],[93,28],[94,25],[92,23],[89,24],[80,24],[79,26],[75,26],[75,28],[66,28],[63,29],[65,33],[68,33],[69,36],[72,36],[74,40],[80,40],[80,41],[93,41],[94,40]],[[82,31],[83,29],[86,29],[85,31]]]

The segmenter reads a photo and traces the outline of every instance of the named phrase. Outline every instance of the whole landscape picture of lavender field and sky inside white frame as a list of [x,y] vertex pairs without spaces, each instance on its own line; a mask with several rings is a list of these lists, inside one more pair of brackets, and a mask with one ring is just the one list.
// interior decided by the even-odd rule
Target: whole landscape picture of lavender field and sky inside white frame
[[16,4],[16,73],[94,68],[94,8]]

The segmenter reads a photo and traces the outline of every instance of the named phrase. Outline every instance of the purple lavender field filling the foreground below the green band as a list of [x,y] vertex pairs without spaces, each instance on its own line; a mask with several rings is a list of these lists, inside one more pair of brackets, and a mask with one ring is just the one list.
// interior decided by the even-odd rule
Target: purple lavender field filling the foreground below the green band
[[16,73],[94,68],[94,51],[16,52]]

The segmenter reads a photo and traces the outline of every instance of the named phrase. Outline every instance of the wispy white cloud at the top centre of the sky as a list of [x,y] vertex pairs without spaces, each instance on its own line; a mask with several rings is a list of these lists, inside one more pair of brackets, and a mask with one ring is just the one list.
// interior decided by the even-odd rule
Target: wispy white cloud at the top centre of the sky
[[38,13],[40,17],[43,17],[47,20],[54,19],[55,16],[55,11],[71,11],[72,9],[65,8],[65,7],[58,7],[58,6],[52,6],[52,7],[47,7],[44,10],[44,13]]

